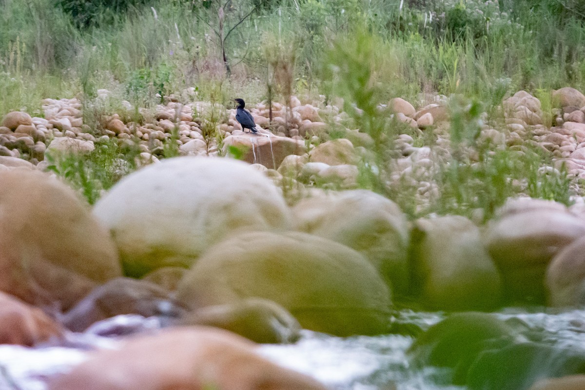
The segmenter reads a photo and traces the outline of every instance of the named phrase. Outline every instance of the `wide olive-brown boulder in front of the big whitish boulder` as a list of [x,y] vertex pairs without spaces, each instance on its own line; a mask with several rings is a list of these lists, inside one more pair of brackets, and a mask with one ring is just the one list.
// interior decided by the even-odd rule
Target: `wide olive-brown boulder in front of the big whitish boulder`
[[305,329],[339,336],[387,328],[390,293],[376,269],[342,244],[306,233],[240,234],[203,254],[177,298],[193,309],[271,299]]

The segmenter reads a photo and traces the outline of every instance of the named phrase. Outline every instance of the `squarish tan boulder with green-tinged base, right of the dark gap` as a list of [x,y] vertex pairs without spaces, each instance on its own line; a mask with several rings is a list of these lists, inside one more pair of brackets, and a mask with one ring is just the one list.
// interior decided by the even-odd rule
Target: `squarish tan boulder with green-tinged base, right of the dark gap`
[[463,216],[419,219],[411,232],[412,291],[432,309],[492,309],[501,299],[500,275]]

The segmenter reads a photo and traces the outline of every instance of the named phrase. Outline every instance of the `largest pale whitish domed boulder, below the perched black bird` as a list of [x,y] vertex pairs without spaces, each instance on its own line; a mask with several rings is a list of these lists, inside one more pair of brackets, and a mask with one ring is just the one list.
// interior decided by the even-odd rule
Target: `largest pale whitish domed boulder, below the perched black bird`
[[234,232],[291,223],[269,178],[241,161],[206,157],[171,158],[128,175],[97,202],[94,215],[111,230],[132,276],[189,267]]

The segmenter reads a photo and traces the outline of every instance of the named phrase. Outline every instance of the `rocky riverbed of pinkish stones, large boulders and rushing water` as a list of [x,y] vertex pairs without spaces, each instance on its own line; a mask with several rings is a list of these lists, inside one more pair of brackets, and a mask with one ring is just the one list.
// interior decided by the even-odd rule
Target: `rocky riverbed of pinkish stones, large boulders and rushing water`
[[[557,108],[543,112],[518,92],[477,139],[541,150],[552,161],[544,170],[570,179],[573,205],[521,196],[529,183],[520,181],[487,221],[412,219],[359,189],[376,140],[346,127],[336,106],[260,103],[251,110],[260,135],[205,102],[135,110],[135,121],[102,115],[98,127],[77,99],[46,99],[44,118],[8,113],[0,384],[582,388],[585,96],[562,88],[552,98]],[[439,191],[438,167],[459,153],[449,101],[433,99],[380,106],[412,129],[393,140],[386,184],[416,185],[418,209]],[[425,132],[433,144],[420,146]],[[48,169],[113,143],[134,148],[135,160],[116,163],[121,178],[93,206]],[[170,146],[184,156],[163,158]],[[480,162],[472,147],[464,152]],[[229,155],[244,161],[221,158]]]

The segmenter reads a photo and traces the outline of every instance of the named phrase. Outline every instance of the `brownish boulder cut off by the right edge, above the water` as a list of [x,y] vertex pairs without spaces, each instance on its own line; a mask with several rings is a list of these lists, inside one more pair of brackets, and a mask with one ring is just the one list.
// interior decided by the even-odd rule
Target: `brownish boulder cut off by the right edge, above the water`
[[585,304],[585,237],[563,248],[546,270],[548,303],[552,306]]

